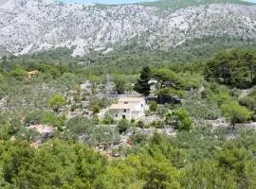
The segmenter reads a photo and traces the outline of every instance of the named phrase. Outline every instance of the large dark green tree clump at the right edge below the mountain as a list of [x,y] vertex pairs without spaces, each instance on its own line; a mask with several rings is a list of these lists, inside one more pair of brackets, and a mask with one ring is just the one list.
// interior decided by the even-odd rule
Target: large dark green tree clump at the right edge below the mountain
[[218,54],[208,62],[205,76],[210,81],[247,89],[256,80],[254,54],[240,50]]

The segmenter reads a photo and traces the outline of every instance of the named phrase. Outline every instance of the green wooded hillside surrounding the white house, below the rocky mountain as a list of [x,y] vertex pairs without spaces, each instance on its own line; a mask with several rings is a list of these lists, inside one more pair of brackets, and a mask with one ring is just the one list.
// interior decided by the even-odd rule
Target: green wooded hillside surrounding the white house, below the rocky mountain
[[[256,48],[230,41],[83,58],[64,48],[3,57],[0,188],[254,189]],[[151,122],[101,119],[116,100],[107,83],[118,94],[181,103],[149,101]],[[30,129],[41,125],[54,132]]]

